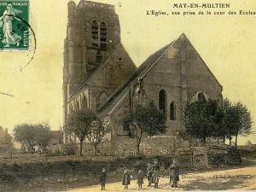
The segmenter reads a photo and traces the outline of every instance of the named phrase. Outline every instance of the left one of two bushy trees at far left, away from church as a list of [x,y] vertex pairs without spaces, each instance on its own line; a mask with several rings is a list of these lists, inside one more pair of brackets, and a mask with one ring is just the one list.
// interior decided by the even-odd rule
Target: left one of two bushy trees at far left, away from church
[[15,141],[27,145],[29,151],[34,151],[34,146],[36,145],[35,133],[36,129],[34,125],[20,124],[15,125],[14,137]]

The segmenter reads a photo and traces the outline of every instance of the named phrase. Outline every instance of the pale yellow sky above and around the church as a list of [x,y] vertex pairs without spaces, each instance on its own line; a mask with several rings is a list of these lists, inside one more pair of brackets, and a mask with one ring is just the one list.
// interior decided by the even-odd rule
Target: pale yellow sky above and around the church
[[[30,25],[35,32],[36,49],[31,37],[30,50],[0,50],[0,92],[13,95],[0,94],[0,125],[9,131],[20,123],[47,122],[53,130],[58,130],[62,125],[67,2],[31,0]],[[75,2],[79,3],[78,0]],[[223,85],[223,96],[232,102],[244,103],[256,117],[256,15],[213,15],[219,10],[256,11],[255,0],[240,0],[236,4],[222,0],[221,3],[230,3],[229,9],[208,9],[212,15],[187,16],[172,15],[172,11],[198,12],[207,9],[173,9],[173,3],[183,3],[173,0],[96,2],[116,5],[122,43],[137,66],[184,32]],[[169,15],[147,15],[147,10],[166,11]],[[243,144],[248,139],[256,143],[255,135],[241,137],[239,143]]]

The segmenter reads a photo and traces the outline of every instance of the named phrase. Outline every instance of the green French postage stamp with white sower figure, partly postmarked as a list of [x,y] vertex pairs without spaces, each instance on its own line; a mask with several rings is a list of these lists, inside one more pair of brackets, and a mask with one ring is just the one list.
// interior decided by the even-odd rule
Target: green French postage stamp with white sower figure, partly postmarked
[[0,49],[29,49],[28,20],[28,0],[0,0]]

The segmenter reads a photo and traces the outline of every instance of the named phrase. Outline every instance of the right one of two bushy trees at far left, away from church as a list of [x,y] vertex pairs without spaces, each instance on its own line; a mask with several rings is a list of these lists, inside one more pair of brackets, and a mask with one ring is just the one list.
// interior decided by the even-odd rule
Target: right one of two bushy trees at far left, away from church
[[41,151],[45,151],[49,146],[49,141],[51,139],[50,135],[50,127],[48,124],[38,124],[35,125],[36,134],[35,134],[35,142],[37,143],[38,147]]

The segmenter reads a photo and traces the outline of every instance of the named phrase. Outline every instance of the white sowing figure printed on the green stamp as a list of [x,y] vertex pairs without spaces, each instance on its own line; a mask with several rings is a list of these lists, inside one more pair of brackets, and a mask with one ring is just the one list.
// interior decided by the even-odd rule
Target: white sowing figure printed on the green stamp
[[0,17],[0,27],[3,27],[3,40],[2,43],[5,44],[4,47],[9,47],[10,44],[16,44],[18,47],[20,45],[21,37],[13,32],[12,20],[15,18],[15,15],[20,14],[21,11],[14,9],[12,4],[8,4],[6,10],[3,12],[3,15]]

